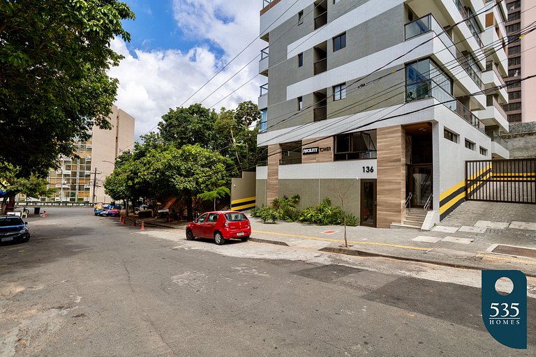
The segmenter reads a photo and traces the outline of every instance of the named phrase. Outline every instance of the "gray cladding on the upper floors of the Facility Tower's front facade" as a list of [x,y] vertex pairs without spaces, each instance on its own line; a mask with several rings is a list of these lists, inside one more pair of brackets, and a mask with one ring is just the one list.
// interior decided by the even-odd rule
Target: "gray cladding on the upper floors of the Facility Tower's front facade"
[[[350,3],[350,6],[348,4]],[[348,10],[352,10],[362,5],[362,1],[340,1],[333,4],[328,1],[328,16],[330,21],[340,17]],[[341,6],[344,4],[344,6]],[[292,17],[281,26],[270,32],[270,39],[274,41],[270,44],[270,70],[269,70],[269,95],[268,95],[268,131],[300,126],[313,122],[313,109],[305,109],[303,112],[297,112],[297,98],[286,100],[286,88],[291,84],[301,82],[304,79],[313,77],[313,49],[308,49],[304,53],[304,66],[298,67],[297,56],[286,59],[288,45],[300,38],[306,37],[313,31],[313,5],[304,9],[304,23],[297,24],[297,16]],[[380,17],[374,17],[359,26],[348,29],[346,36],[346,47],[337,52],[333,52],[333,41],[327,40],[327,59],[328,68],[336,68],[345,63],[355,61],[369,54],[373,54],[387,47],[403,42],[403,28],[405,19],[405,8],[403,5],[397,6]],[[374,33],[374,36],[368,36]],[[274,40],[276,39],[276,40]],[[393,68],[375,73],[368,77],[368,81],[377,79],[393,71]],[[348,79],[347,85],[356,82],[357,79]],[[355,114],[363,110],[373,110],[381,107],[401,104],[404,101],[403,83],[405,74],[403,71],[382,79],[380,82],[371,84],[366,88],[356,90],[357,84],[350,86],[347,91],[345,100],[333,101],[333,88],[327,88],[328,97],[328,115],[343,116]],[[386,88],[391,89],[395,84],[400,85],[400,89],[391,93],[385,93],[385,96],[377,98],[375,94],[382,93]],[[398,87],[397,87],[398,89]],[[399,96],[395,96],[396,94]],[[368,100],[373,96],[373,100]],[[367,99],[367,100],[365,100]],[[304,108],[314,105],[317,100],[313,93],[303,96]],[[348,107],[352,103],[362,102],[361,105]],[[348,108],[346,108],[348,107]],[[292,115],[295,114],[295,115]],[[292,117],[291,117],[292,116]]]

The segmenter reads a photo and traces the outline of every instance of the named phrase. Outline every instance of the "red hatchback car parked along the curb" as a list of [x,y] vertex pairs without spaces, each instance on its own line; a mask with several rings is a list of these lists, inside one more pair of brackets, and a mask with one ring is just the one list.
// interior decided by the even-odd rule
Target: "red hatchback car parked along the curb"
[[251,225],[248,218],[244,213],[235,211],[203,213],[186,226],[188,241],[193,241],[195,237],[214,238],[216,244],[222,245],[225,239],[241,239],[245,242],[249,236],[251,236]]

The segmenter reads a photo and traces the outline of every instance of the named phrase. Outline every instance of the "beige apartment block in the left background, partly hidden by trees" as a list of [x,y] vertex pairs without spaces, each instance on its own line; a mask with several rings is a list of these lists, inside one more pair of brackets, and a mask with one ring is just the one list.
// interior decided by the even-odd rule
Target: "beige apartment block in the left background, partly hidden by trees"
[[58,169],[51,169],[48,177],[50,188],[56,188],[55,197],[41,197],[40,201],[57,204],[94,204],[110,202],[103,183],[114,170],[114,162],[121,150],[134,142],[135,120],[128,113],[112,107],[112,130],[94,127],[91,139],[76,142],[79,159],[63,157]]

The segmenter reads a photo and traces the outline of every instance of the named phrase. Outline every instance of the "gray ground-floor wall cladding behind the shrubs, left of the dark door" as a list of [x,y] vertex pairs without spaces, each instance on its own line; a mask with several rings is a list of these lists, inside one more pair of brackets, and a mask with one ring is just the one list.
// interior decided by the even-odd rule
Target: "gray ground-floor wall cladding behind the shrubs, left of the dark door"
[[360,185],[355,179],[279,180],[279,197],[300,195],[299,208],[316,206],[326,197],[332,205],[341,207],[338,195],[343,194],[344,211],[359,217]]

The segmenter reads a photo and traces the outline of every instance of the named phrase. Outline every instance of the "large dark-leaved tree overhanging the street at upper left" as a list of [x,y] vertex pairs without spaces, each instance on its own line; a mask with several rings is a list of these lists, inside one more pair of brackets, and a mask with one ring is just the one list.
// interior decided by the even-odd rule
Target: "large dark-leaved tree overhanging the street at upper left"
[[0,160],[18,175],[45,174],[73,139],[89,139],[107,115],[117,80],[107,76],[130,40],[121,20],[134,14],[117,0],[0,2]]

